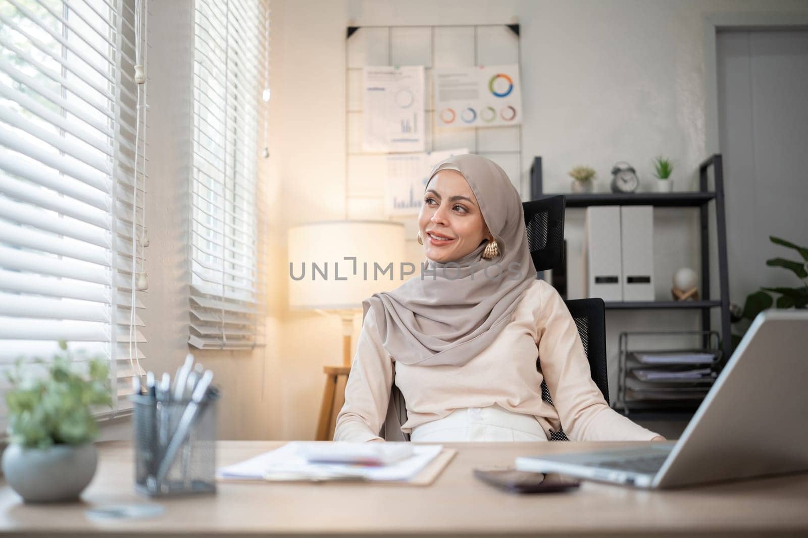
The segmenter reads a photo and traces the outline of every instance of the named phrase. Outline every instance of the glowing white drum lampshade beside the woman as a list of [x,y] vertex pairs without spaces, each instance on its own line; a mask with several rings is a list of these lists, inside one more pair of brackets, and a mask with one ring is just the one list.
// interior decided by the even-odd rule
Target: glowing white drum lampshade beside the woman
[[[337,220],[290,227],[288,256],[291,273],[287,271],[286,277],[292,308],[361,308],[372,294],[393,290],[411,277],[402,280],[404,225],[389,220]],[[356,257],[356,264],[345,260],[351,256]],[[392,281],[391,271],[381,272],[390,263]],[[374,264],[380,269],[374,271]],[[301,274],[305,275],[301,280],[294,279]]]

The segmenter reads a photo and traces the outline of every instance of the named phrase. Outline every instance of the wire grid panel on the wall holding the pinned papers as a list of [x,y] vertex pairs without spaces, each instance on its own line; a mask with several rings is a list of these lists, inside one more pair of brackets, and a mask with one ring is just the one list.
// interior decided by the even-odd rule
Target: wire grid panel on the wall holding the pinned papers
[[[365,65],[423,65],[426,88],[425,152],[468,148],[502,166],[520,194],[521,125],[507,127],[436,127],[433,105],[434,68],[520,64],[520,39],[507,25],[364,26],[346,43],[346,206],[349,219],[385,218],[386,157],[395,153],[362,151],[362,68]],[[428,172],[425,171],[425,173]],[[523,194],[524,198],[524,194]],[[394,217],[415,243],[415,216]]]

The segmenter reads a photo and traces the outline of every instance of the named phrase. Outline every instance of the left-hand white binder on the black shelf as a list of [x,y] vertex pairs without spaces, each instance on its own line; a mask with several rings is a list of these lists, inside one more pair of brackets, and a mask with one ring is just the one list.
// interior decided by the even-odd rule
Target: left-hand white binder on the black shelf
[[584,235],[587,297],[622,301],[620,206],[590,206]]

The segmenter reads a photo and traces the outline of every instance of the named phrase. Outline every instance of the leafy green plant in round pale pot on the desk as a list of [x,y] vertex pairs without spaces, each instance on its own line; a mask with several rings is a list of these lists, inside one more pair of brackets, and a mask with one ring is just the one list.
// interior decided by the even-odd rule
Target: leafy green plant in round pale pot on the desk
[[[112,405],[106,361],[84,357],[82,375],[67,344],[59,346],[62,352],[49,363],[36,359],[23,369],[19,359],[13,371],[6,371],[10,444],[2,454],[2,471],[27,503],[78,499],[97,463],[94,407]],[[33,365],[44,365],[46,375],[33,376]]]

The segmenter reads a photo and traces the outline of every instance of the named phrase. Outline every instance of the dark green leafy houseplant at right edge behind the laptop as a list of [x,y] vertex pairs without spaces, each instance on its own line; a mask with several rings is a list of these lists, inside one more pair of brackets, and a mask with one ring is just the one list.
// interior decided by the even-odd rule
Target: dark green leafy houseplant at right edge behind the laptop
[[776,308],[801,309],[808,307],[808,248],[793,244],[780,237],[769,236],[768,239],[773,244],[792,248],[802,257],[802,261],[776,257],[767,260],[766,265],[769,267],[788,269],[794,273],[802,283],[793,288],[785,286],[761,287],[760,290],[747,295],[746,301],[743,303],[743,308],[738,305],[730,305],[732,322],[739,330],[739,332],[733,332],[733,347],[736,347],[740,343],[743,334],[747,332],[752,320],[755,319],[755,316],[760,314],[760,312],[772,306]]

